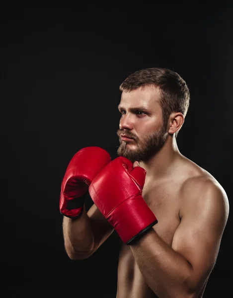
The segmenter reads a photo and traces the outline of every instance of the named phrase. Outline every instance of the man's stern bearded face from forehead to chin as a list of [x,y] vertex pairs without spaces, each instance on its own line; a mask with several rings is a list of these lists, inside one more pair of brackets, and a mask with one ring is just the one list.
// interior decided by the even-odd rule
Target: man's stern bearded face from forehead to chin
[[122,92],[118,106],[121,113],[117,131],[119,156],[132,162],[146,161],[162,148],[168,133],[162,121],[159,96],[159,89],[153,86]]

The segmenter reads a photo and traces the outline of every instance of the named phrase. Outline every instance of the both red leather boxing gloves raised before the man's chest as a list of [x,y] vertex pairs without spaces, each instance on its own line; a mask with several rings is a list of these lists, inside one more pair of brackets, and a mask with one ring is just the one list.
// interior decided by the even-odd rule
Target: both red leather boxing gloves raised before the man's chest
[[60,212],[78,218],[89,191],[92,201],[122,241],[133,244],[157,223],[142,196],[145,177],[145,169],[133,168],[125,157],[111,161],[102,148],[80,149],[68,164],[62,181]]

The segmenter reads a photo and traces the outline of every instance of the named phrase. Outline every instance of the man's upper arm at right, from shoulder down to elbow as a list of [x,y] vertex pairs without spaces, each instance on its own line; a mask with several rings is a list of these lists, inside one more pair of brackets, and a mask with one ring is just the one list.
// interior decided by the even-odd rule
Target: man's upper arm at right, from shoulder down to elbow
[[208,187],[189,200],[172,241],[172,248],[192,267],[194,288],[203,285],[214,267],[228,217],[226,198],[219,189]]

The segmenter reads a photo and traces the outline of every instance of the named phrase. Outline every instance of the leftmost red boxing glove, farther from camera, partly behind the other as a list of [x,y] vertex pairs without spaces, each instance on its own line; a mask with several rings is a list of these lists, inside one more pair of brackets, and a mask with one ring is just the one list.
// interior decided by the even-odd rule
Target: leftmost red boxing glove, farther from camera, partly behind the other
[[111,161],[107,151],[99,147],[80,149],[71,159],[61,185],[60,212],[75,219],[83,211],[84,194],[93,178]]

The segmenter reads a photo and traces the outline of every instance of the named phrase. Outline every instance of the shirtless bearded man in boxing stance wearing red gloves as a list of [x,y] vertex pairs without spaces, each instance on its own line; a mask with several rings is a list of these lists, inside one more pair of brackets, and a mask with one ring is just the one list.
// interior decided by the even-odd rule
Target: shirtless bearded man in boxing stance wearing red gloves
[[[188,87],[178,74],[154,68],[131,74],[120,90],[119,157],[110,161],[103,149],[82,149],[64,176],[66,252],[72,260],[88,258],[115,228],[122,239],[117,298],[201,298],[229,202],[219,182],[177,147]],[[138,193],[124,197],[121,190],[135,185]],[[86,212],[88,190],[94,204]]]

